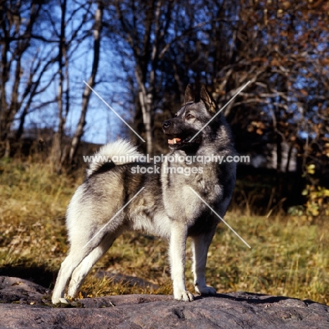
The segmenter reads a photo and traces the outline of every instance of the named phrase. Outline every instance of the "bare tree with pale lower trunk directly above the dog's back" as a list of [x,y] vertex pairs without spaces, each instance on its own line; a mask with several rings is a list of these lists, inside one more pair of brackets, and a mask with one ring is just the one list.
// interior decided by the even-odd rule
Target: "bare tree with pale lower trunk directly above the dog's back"
[[[157,68],[167,49],[174,1],[112,1],[106,27],[112,41],[124,41],[121,55],[134,58],[138,102],[143,114],[147,152],[153,154],[153,122]],[[123,34],[122,34],[123,32]]]

